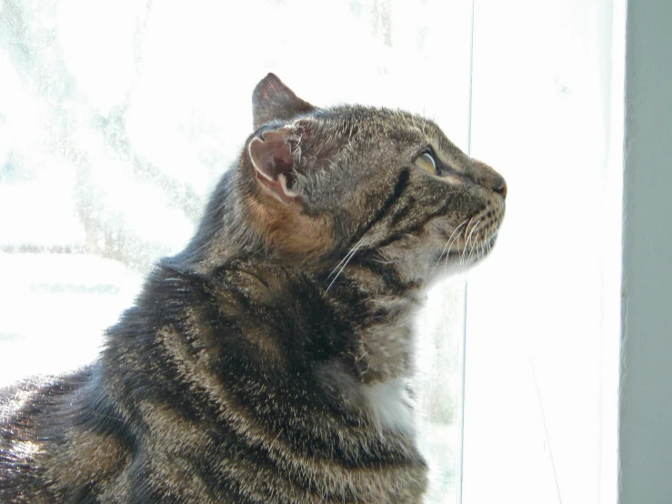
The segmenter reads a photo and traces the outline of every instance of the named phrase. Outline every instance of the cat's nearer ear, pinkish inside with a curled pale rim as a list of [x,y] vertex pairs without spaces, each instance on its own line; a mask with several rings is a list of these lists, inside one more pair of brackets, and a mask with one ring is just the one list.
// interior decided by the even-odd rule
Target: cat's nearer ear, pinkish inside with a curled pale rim
[[289,145],[291,134],[289,127],[265,131],[261,136],[255,136],[248,147],[256,179],[283,203],[291,203],[297,197],[289,188],[294,168]]

